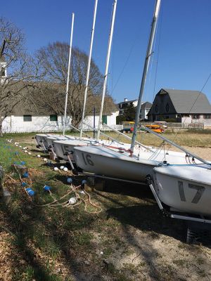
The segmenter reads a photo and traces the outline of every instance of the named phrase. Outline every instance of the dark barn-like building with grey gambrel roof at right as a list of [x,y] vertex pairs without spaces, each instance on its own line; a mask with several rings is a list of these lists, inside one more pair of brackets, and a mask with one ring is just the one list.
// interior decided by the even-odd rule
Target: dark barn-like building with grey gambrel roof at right
[[211,124],[210,102],[200,91],[160,89],[148,112],[148,120],[163,119]]

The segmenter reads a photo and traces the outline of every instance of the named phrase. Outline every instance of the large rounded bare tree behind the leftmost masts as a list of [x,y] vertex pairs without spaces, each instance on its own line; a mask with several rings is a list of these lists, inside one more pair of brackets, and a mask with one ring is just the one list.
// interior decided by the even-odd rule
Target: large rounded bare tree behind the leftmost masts
[[[37,84],[39,95],[36,94],[36,99],[41,99],[46,107],[60,115],[64,114],[65,107],[69,48],[70,46],[66,43],[55,42],[39,49],[37,52],[37,61],[40,65],[39,71],[44,74],[44,82]],[[79,48],[72,48],[67,113],[72,118],[73,126],[78,126],[82,119],[87,64],[87,54],[80,51]],[[94,63],[94,60],[91,60],[85,115],[91,114],[94,107],[96,107],[96,110],[100,107],[102,86],[103,75]],[[109,97],[107,100],[112,101],[112,98]]]

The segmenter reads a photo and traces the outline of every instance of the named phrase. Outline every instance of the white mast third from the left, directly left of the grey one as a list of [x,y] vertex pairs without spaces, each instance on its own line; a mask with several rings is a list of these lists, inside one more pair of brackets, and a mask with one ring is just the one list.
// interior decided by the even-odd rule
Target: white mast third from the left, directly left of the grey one
[[114,0],[114,2],[113,2],[113,14],[112,14],[111,25],[110,25],[110,34],[109,34],[109,38],[108,38],[108,52],[107,52],[107,58],[106,58],[106,70],[105,70],[104,81],[103,81],[103,93],[102,93],[102,100],[101,100],[101,111],[100,111],[99,121],[98,121],[98,133],[97,133],[97,138],[96,138],[97,141],[99,140],[100,133],[101,133],[103,105],[104,105],[105,94],[106,94],[106,82],[107,82],[107,78],[108,78],[108,66],[109,66],[109,60],[110,60],[110,48],[111,48],[111,43],[112,43],[112,39],[113,39],[113,27],[114,27],[114,22],[115,22],[116,7],[117,7],[117,0]]

